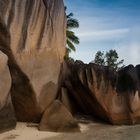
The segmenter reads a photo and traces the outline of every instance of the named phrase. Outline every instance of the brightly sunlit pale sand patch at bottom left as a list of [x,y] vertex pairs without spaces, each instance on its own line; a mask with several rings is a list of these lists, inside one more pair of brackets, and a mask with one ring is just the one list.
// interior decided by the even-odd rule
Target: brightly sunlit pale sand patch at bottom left
[[18,122],[14,130],[0,134],[0,140],[41,140],[57,135],[60,134],[53,132],[38,131],[35,124]]

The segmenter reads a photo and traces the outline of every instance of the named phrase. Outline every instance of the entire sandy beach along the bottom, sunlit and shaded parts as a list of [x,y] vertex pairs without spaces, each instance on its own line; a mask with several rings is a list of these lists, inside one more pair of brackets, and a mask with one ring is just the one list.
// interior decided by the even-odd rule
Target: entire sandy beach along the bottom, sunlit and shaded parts
[[17,123],[14,130],[0,134],[0,140],[139,140],[140,125],[112,126],[101,123],[79,124],[81,133],[38,131],[36,124]]

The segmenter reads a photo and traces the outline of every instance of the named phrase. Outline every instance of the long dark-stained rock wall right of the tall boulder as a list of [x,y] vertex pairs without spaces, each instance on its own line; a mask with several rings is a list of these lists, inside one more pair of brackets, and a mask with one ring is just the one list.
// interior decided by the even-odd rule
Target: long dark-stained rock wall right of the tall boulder
[[61,88],[68,92],[71,113],[98,117],[112,124],[139,123],[139,70],[140,66],[132,65],[115,72],[95,64],[64,63]]

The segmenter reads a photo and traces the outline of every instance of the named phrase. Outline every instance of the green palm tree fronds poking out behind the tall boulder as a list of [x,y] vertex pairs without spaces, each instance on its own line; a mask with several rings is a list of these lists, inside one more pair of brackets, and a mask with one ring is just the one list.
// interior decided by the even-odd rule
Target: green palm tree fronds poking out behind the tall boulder
[[[65,7],[65,11],[67,10],[67,7]],[[67,46],[66,46],[66,53],[65,53],[65,59],[69,59],[69,53],[71,51],[76,51],[75,44],[78,45],[79,38],[75,35],[75,33],[72,31],[74,28],[79,27],[79,22],[77,19],[73,18],[74,14],[70,13],[66,15],[67,18],[67,30],[66,30],[66,37],[67,37]]]

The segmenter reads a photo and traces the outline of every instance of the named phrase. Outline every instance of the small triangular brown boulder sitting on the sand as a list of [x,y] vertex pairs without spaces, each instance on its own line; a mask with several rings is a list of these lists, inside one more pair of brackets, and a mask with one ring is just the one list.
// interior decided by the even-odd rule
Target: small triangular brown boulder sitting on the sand
[[44,112],[39,130],[54,132],[80,132],[77,121],[67,108],[55,100]]

